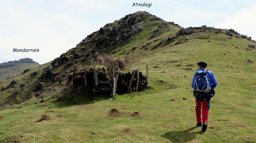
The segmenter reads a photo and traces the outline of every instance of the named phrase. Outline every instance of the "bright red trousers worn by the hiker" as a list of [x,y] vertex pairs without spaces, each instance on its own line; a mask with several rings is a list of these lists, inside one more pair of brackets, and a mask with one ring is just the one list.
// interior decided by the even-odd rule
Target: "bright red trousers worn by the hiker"
[[[202,118],[201,118],[201,109],[202,109]],[[196,120],[197,122],[207,122],[209,116],[210,101],[199,101],[196,100]]]

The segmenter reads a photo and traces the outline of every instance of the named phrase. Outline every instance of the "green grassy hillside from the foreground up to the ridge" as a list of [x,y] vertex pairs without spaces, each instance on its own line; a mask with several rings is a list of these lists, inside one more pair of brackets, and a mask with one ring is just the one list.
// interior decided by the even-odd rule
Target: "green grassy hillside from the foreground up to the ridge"
[[[171,24],[168,24],[169,31],[150,39],[162,23],[151,21],[151,18],[141,21],[143,31],[123,44],[113,43],[115,48],[98,49],[108,51],[112,57],[127,56],[129,68],[140,68],[143,74],[149,65],[151,88],[118,93],[112,100],[110,95],[88,93],[87,90],[69,94],[65,90],[65,80],[48,81],[42,82],[42,94],[49,94],[42,102],[33,96],[37,92],[31,92],[30,87],[33,88],[45,73],[44,68],[52,65],[46,63],[23,76],[14,77],[19,84],[27,81],[28,86],[21,92],[26,94],[10,98],[8,95],[13,94],[10,90],[14,88],[0,92],[1,101],[22,102],[12,109],[0,111],[0,116],[4,117],[0,118],[0,142],[256,142],[256,50],[248,48],[248,44],[255,45],[255,42],[228,36],[226,30],[215,33],[213,28],[177,36],[182,28]],[[172,39],[174,41],[170,42]],[[74,51],[83,55],[90,49],[95,50],[94,46],[87,45],[93,40],[78,44]],[[71,53],[67,52],[69,59],[73,56]],[[211,99],[206,132],[195,126],[195,99],[190,86],[199,61],[208,63],[207,69],[214,72],[218,81],[216,94]],[[57,76],[66,74],[66,64],[54,67],[53,72],[59,72]],[[38,75],[31,77],[34,71],[39,71]],[[14,78],[3,81],[0,86]],[[31,99],[23,102],[23,96]],[[122,113],[112,113],[113,108]],[[145,116],[130,117],[134,112]],[[42,116],[50,120],[38,121]]]

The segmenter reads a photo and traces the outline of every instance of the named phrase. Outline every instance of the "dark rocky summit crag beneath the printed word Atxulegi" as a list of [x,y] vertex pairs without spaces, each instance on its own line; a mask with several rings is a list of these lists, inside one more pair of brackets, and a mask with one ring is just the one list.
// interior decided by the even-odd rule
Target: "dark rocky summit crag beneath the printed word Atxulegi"
[[152,21],[162,20],[145,11],[128,14],[113,23],[106,24],[104,27],[101,27],[100,30],[88,35],[77,46],[85,44],[88,40],[90,40],[89,46],[94,46],[98,49],[105,49],[109,46],[119,45],[125,40],[130,39],[132,36],[143,31],[140,22],[145,19],[150,19]]

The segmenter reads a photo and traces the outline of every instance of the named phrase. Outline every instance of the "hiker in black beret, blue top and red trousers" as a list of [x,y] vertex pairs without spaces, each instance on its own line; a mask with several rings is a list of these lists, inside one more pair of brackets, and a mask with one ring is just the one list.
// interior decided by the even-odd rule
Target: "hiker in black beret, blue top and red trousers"
[[196,70],[191,83],[191,86],[194,88],[193,93],[196,101],[196,125],[202,126],[202,131],[206,131],[210,109],[210,100],[215,94],[214,88],[217,86],[218,82],[213,72],[206,69],[207,63],[198,62],[197,65],[198,70]]

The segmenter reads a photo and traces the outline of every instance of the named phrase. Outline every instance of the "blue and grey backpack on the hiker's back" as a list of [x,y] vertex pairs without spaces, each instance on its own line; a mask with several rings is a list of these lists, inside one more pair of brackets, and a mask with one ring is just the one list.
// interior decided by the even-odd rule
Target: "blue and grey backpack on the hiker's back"
[[207,69],[198,69],[195,72],[194,90],[195,92],[210,92],[211,80]]

